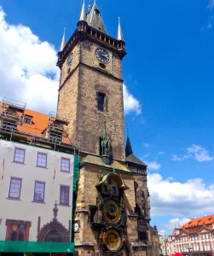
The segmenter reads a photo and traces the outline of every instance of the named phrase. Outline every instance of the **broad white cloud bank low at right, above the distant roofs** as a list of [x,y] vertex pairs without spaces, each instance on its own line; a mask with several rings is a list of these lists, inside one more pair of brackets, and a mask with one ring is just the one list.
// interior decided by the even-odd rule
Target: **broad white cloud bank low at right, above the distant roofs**
[[159,173],[148,174],[147,182],[152,216],[190,218],[214,212],[214,183],[207,186],[201,178],[173,182]]

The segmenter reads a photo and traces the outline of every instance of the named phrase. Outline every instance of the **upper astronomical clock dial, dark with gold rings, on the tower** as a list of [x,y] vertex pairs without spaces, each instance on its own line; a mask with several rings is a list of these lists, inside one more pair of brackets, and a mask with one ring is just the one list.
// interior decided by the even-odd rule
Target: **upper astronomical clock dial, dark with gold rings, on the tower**
[[119,204],[116,201],[108,200],[103,206],[103,218],[108,223],[117,223],[121,218]]

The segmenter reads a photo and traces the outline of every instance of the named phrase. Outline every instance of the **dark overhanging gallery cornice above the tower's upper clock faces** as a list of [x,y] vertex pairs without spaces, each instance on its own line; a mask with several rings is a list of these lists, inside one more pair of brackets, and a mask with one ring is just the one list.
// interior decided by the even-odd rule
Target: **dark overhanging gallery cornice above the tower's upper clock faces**
[[78,28],[72,34],[72,37],[69,39],[64,49],[58,53],[57,66],[61,68],[62,63],[65,61],[67,55],[69,55],[74,46],[78,44],[79,41],[87,39],[95,44],[105,47],[106,49],[112,50],[113,53],[119,55],[120,59],[123,59],[124,55],[126,55],[124,41],[110,37],[109,35],[96,30],[94,27],[89,26],[86,21],[80,20],[78,21]]

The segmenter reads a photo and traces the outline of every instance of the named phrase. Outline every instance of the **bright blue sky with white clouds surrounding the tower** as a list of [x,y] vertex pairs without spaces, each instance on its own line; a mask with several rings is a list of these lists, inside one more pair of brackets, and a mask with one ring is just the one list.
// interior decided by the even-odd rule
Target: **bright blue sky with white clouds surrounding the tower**
[[[55,110],[56,53],[82,3],[0,0],[1,99]],[[170,235],[188,218],[214,213],[214,0],[96,3],[113,37],[121,17],[125,125],[148,165],[151,224]]]

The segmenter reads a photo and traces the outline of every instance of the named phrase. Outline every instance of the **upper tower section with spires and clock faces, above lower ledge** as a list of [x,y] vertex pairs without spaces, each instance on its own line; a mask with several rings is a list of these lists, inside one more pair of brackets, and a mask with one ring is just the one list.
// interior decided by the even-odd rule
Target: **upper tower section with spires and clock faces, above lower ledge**
[[83,6],[76,31],[59,53],[61,83],[58,113],[69,116],[69,135],[80,140],[84,153],[101,154],[103,124],[107,124],[110,157],[124,160],[124,102],[121,61],[125,55],[118,38],[107,34],[99,9]]

